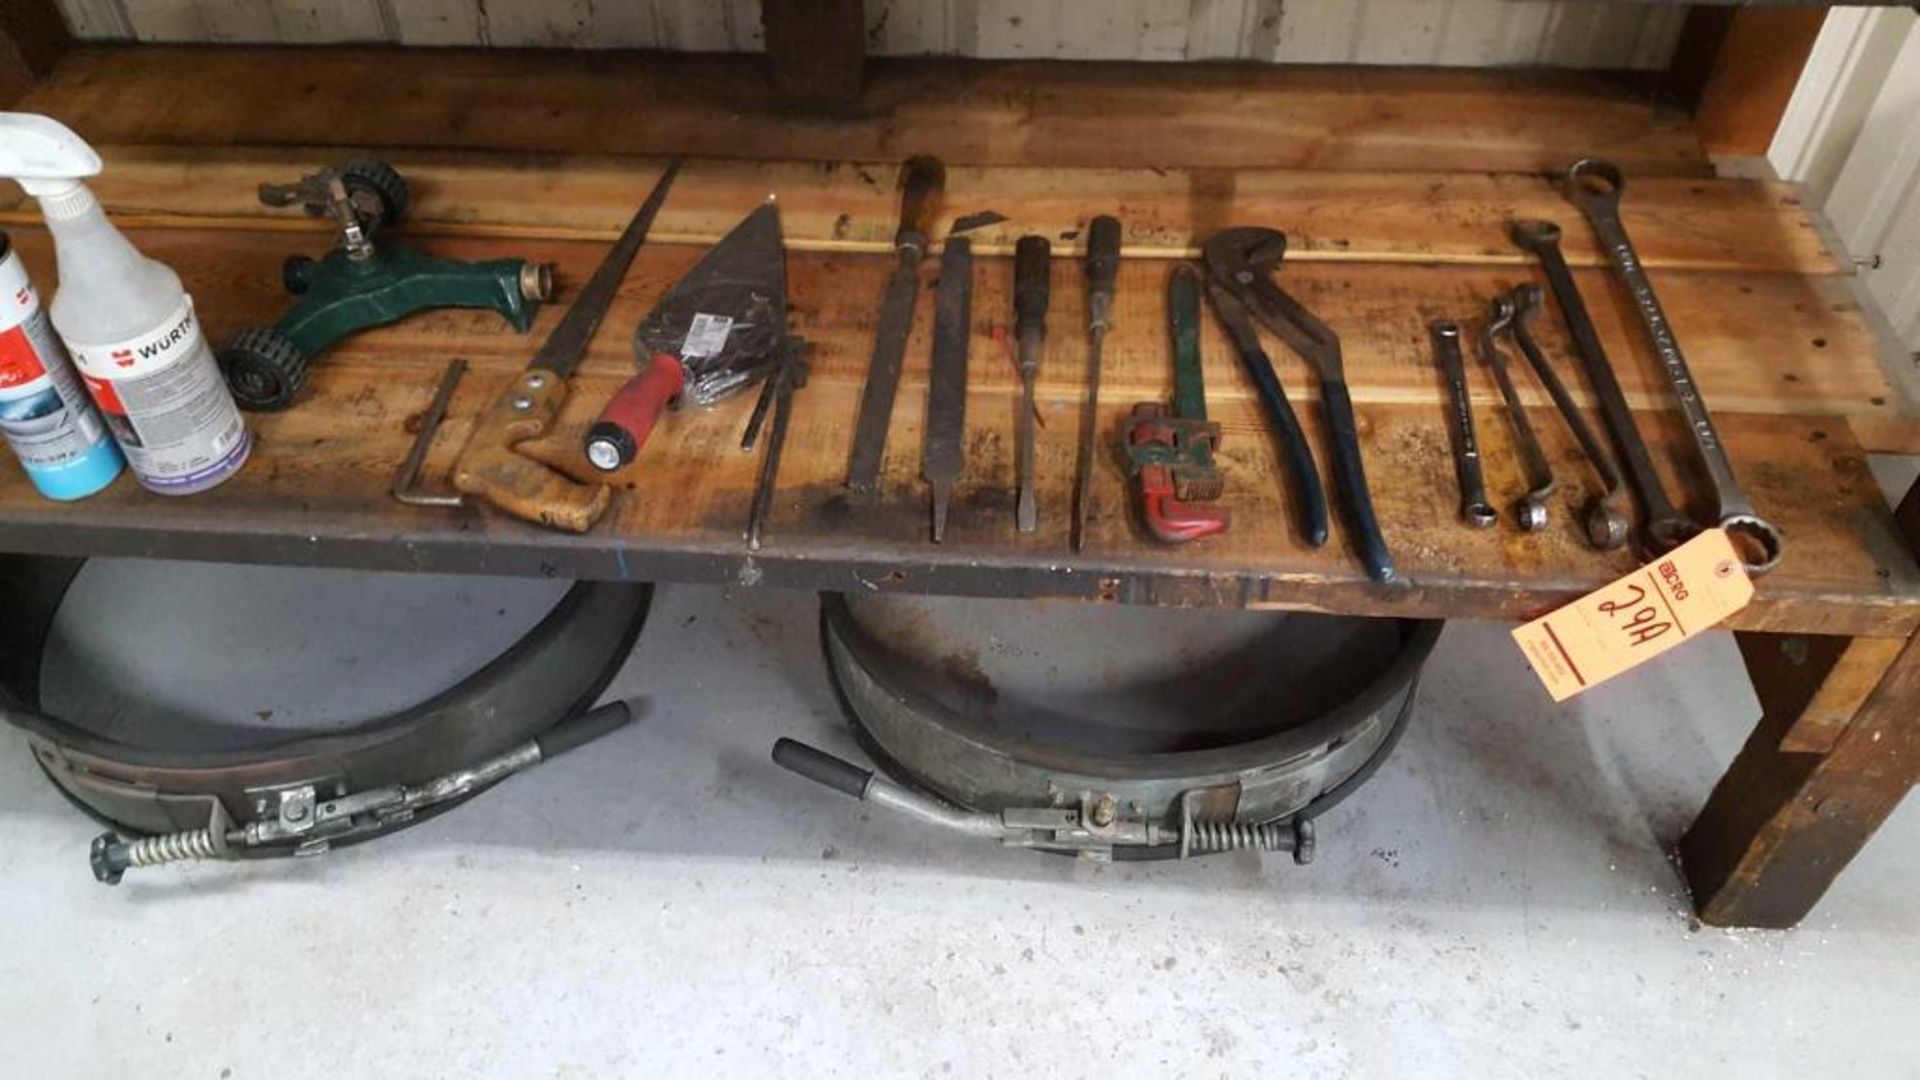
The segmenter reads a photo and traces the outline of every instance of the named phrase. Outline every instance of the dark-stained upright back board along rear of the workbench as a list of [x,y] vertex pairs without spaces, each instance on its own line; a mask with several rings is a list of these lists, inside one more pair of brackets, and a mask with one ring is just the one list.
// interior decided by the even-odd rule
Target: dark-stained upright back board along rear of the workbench
[[851,115],[781,113],[758,58],[113,48],[23,108],[104,144],[405,146],[952,165],[1709,175],[1688,115],[1594,75],[876,60]]

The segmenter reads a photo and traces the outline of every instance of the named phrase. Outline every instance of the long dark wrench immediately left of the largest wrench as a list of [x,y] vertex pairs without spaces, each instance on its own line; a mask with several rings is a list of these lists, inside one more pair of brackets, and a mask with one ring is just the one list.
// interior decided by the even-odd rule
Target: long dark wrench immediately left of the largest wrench
[[1645,515],[1642,525],[1642,553],[1659,555],[1678,548],[1699,532],[1699,527],[1674,507],[1672,500],[1667,498],[1667,488],[1661,486],[1661,475],[1653,469],[1653,455],[1647,454],[1647,442],[1640,438],[1640,425],[1634,423],[1634,409],[1626,404],[1620,380],[1613,377],[1613,363],[1607,361],[1607,350],[1599,344],[1599,334],[1594,331],[1594,317],[1586,313],[1580,286],[1574,284],[1572,271],[1567,269],[1567,256],[1559,250],[1559,225],[1551,221],[1515,221],[1507,227],[1507,234],[1521,250],[1540,259],[1540,269],[1548,275],[1553,300],[1559,300],[1561,317],[1567,319],[1567,332],[1572,336],[1572,348],[1580,354],[1580,365],[1586,367],[1586,380],[1594,384],[1594,396],[1599,398],[1599,415],[1607,421],[1613,450],[1620,455],[1620,465],[1626,469],[1626,477],[1640,496],[1640,509]]

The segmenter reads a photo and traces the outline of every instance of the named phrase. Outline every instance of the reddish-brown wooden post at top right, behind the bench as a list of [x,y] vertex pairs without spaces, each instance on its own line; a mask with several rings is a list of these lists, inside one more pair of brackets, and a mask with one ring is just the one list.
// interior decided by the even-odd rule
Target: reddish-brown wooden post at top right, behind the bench
[[[1724,19],[1724,35],[1693,110],[1699,142],[1713,156],[1766,154],[1826,23],[1826,8],[1740,8],[1705,19],[1707,25]],[[1690,50],[1678,56],[1693,65],[1705,60]]]

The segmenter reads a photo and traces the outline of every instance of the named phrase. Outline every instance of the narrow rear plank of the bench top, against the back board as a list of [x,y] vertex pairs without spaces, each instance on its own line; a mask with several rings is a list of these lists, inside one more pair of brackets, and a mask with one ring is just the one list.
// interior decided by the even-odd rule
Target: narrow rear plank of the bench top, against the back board
[[[129,225],[298,229],[324,221],[269,209],[261,181],[292,181],[365,148],[102,146],[106,173],[92,184]],[[413,188],[413,234],[612,240],[659,179],[660,158],[526,156],[403,150],[386,156]],[[1561,161],[1563,165],[1569,163]],[[1626,227],[1653,269],[1740,269],[1828,275],[1841,265],[1793,184],[1634,177]],[[899,196],[895,167],[858,161],[687,161],[653,236],[710,244],[766,194],[778,192],[787,244],[801,250],[885,252]],[[1012,252],[1023,233],[1079,250],[1094,213],[1125,223],[1127,254],[1196,256],[1225,225],[1271,223],[1288,233],[1294,261],[1507,263],[1528,256],[1505,240],[1505,223],[1546,217],[1565,227],[1574,265],[1601,265],[1592,229],[1540,173],[1350,173],[1315,169],[1041,169],[952,165],[947,209],[995,209],[1006,221],[970,233],[973,250]],[[38,221],[12,184],[0,223]]]

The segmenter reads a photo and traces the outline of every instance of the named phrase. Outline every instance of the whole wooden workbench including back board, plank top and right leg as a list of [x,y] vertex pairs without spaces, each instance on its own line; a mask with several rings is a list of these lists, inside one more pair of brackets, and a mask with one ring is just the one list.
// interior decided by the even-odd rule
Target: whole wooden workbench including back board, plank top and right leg
[[[756,465],[737,450],[745,398],[674,415],[586,536],[390,500],[444,363],[465,357],[472,371],[428,479],[444,479],[480,404],[553,325],[559,307],[549,307],[532,336],[495,315],[442,311],[336,346],[294,409],[253,417],[252,463],[209,494],[169,500],[121,480],[56,505],[8,465],[0,550],[1530,617],[1611,580],[1632,557],[1580,542],[1574,509],[1594,479],[1530,375],[1521,382],[1561,477],[1553,527],[1526,536],[1455,521],[1427,321],[1476,321],[1496,290],[1536,277],[1505,242],[1503,221],[1563,223],[1670,490],[1695,503],[1705,492],[1624,292],[1599,269],[1578,211],[1542,177],[1597,154],[1626,167],[1628,229],[1741,480],[1788,534],[1780,569],[1734,619],[1749,632],[1741,646],[1768,715],[1686,842],[1705,917],[1793,922],[1912,780],[1920,661],[1903,642],[1920,626],[1920,569],[1864,459],[1908,438],[1880,342],[1795,190],[1711,179],[1678,110],[1544,75],[1215,67],[1162,69],[1148,85],[1121,65],[991,65],[993,79],[983,65],[914,65],[876,69],[860,110],[797,119],[741,90],[728,61],[396,56],[79,50],[17,108],[52,113],[100,146],[108,169],[96,192],[144,252],[182,275],[215,340],[273,323],[286,302],[280,261],[328,242],[324,225],[259,208],[261,181],[348,154],[384,156],[413,181],[411,242],[457,258],[553,259],[566,302],[659,175],[660,154],[691,154],[576,377],[574,430],[632,373],[632,327],[660,290],[701,244],[776,194],[793,331],[812,342],[812,380],[797,396],[766,546],[749,552],[741,540]],[[943,546],[925,540],[918,480],[927,302],[908,344],[883,488],[872,502],[841,492],[876,302],[893,267],[893,171],[914,152],[948,161],[947,219],[1006,217],[973,233],[985,258],[973,282],[968,467]],[[1202,342],[1210,407],[1227,432],[1233,530],[1185,548],[1142,540],[1125,475],[1104,454],[1087,550],[1069,552],[1085,363],[1077,236],[1094,213],[1123,219],[1127,254],[1102,380],[1108,434],[1135,402],[1169,392],[1167,267],[1225,225],[1288,233],[1283,282],[1344,338],[1373,494],[1405,586],[1367,582],[1338,521],[1325,550],[1300,540],[1252,384],[1212,319]],[[35,211],[8,192],[0,223],[50,286]],[[1021,233],[1048,234],[1058,256],[1033,536],[1014,530],[1018,379],[995,336],[1012,323],[1008,256]],[[933,271],[929,259],[929,284]],[[1538,331],[1590,402],[1559,317]],[[1325,469],[1315,380],[1279,342],[1269,348]],[[1473,379],[1490,490],[1505,505],[1519,469],[1490,379]]]

